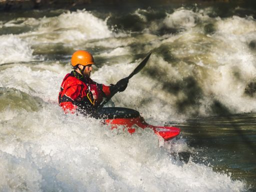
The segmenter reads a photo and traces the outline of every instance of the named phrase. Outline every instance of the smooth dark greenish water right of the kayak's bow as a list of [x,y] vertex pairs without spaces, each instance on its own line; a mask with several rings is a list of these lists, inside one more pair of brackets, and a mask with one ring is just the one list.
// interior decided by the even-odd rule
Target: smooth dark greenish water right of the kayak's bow
[[[187,120],[180,125],[183,136],[197,152],[195,162],[211,164],[233,179],[245,179],[255,190],[255,113],[234,114]],[[181,154],[184,157],[184,154]]]

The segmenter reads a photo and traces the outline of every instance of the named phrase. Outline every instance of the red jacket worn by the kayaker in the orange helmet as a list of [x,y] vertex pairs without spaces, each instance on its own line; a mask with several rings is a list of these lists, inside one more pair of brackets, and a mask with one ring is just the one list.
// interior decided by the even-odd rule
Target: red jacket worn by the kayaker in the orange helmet
[[83,113],[91,110],[93,105],[88,102],[88,86],[94,84],[103,93],[103,96],[110,95],[110,86],[94,82],[91,78],[84,79],[75,70],[67,73],[61,83],[58,93],[58,103],[65,113],[74,113],[76,110],[83,110]]

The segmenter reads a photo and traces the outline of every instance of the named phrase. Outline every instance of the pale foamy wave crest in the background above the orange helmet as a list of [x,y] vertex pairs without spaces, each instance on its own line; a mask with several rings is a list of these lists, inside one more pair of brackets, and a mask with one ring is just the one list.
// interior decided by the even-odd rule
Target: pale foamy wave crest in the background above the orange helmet
[[110,37],[111,31],[106,20],[97,18],[89,11],[77,10],[55,17],[42,17],[37,30],[21,35],[30,39],[31,43],[64,42],[75,45],[89,39]]

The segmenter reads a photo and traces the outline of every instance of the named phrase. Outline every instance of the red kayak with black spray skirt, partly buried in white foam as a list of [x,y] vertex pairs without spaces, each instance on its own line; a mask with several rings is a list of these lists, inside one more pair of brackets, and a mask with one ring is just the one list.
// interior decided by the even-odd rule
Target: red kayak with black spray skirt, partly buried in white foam
[[180,129],[174,126],[154,126],[145,122],[139,112],[134,109],[124,107],[102,107],[99,110],[105,124],[110,124],[111,128],[117,128],[119,125],[125,126],[129,133],[134,133],[136,127],[151,128],[154,133],[169,140],[179,135]]

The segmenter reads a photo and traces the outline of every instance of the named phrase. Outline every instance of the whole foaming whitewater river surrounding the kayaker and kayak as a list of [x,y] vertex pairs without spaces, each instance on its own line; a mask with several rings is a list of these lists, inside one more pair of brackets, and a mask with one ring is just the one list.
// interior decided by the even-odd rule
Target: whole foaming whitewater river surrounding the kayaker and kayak
[[[0,191],[255,191],[255,10],[220,10],[1,12]],[[180,127],[180,138],[64,114],[57,95],[78,49],[93,54],[91,78],[104,84],[152,51],[109,104]]]

